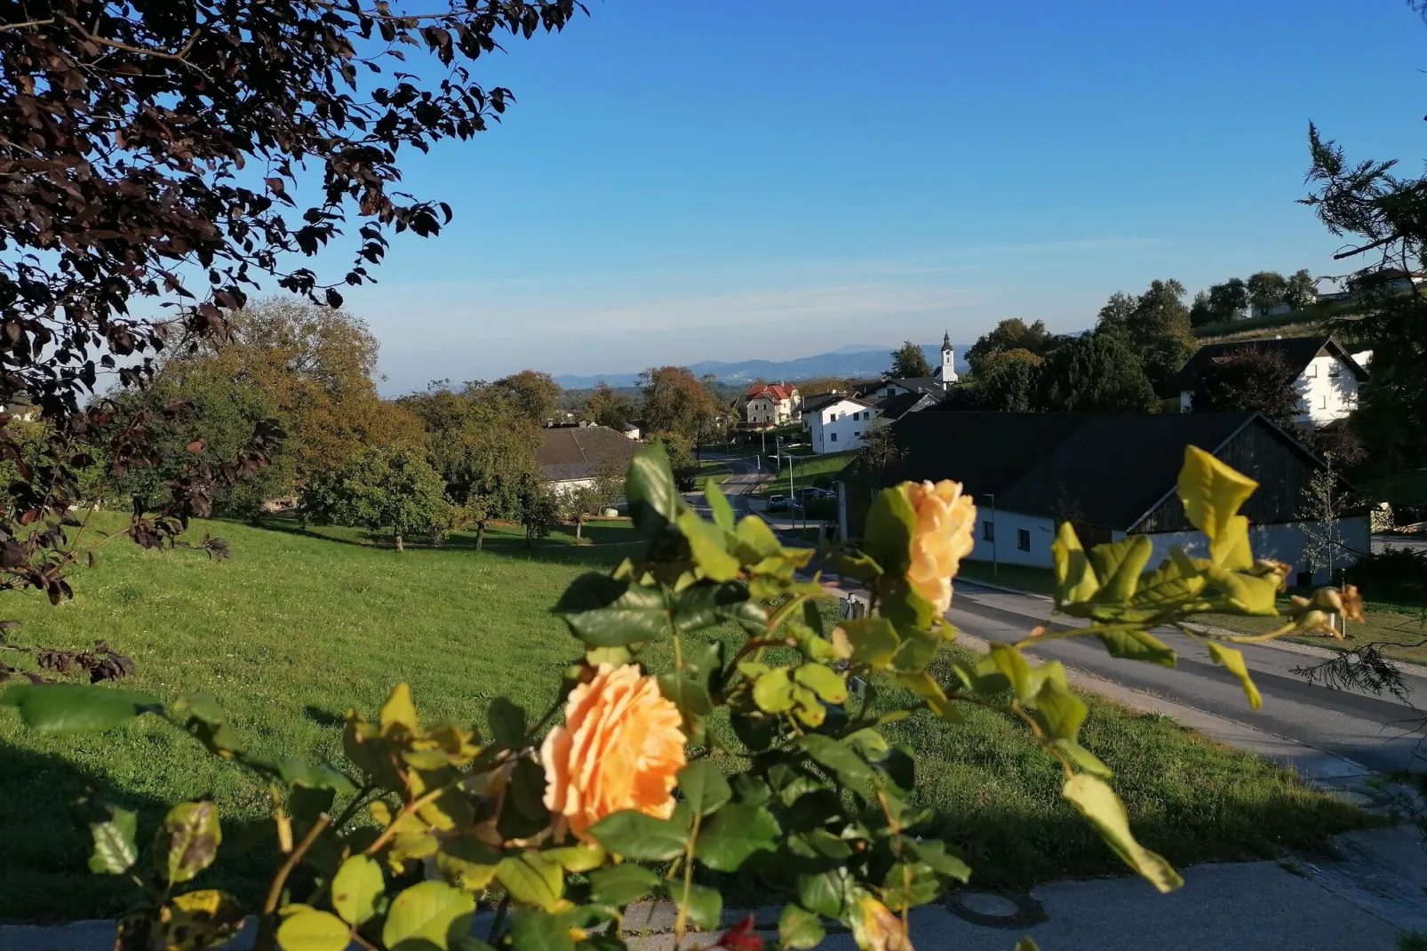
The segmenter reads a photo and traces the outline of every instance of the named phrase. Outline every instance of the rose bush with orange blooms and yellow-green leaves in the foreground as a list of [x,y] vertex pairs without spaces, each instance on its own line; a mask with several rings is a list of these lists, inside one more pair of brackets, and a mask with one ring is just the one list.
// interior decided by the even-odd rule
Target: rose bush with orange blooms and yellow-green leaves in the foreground
[[[1059,663],[1032,667],[1022,648],[1096,637],[1116,655],[1174,664],[1150,631],[1180,625],[1243,683],[1236,641],[1324,630],[1360,611],[1356,591],[1291,601],[1254,637],[1183,628],[1199,613],[1276,614],[1286,565],[1256,561],[1239,507],[1251,480],[1190,447],[1179,495],[1209,537],[1209,557],[1174,550],[1146,573],[1150,541],[1127,537],[1086,551],[1062,525],[1055,543],[1056,611],[1080,625],[1039,627],[983,657],[932,661],[955,637],[945,613],[970,551],[975,507],[955,483],[883,490],[866,537],[821,551],[783,547],[753,515],[735,518],[712,483],[712,520],[675,488],[661,447],[642,451],[626,484],[639,557],[577,578],[555,604],[574,634],[559,698],[542,715],[495,700],[488,730],[422,724],[404,684],[375,720],[348,711],[344,763],[247,753],[207,694],[167,701],[76,684],[21,684],[0,703],[36,730],[103,730],[154,715],[235,768],[264,777],[271,814],[258,831],[280,855],[261,905],[190,887],[221,860],[213,802],[183,802],[148,855],[136,815],[88,801],[90,867],[141,890],[120,922],[120,951],[211,947],[257,917],[260,951],[599,951],[622,948],[626,908],[658,898],[676,908],[675,940],[719,925],[719,875],[746,877],[783,902],[782,948],[812,948],[825,922],[869,951],[910,951],[908,911],[973,870],[913,805],[915,751],[880,733],[909,715],[959,720],[963,704],[1025,724],[1060,767],[1062,795],[1126,865],[1160,891],[1179,874],[1132,834],[1110,770],[1080,745],[1085,703]],[[823,573],[868,590],[866,617],[823,625]],[[741,638],[726,637],[728,628]],[[651,645],[668,651],[651,651]],[[668,655],[668,663],[655,657]],[[855,678],[855,680],[853,680]],[[902,687],[888,710],[879,691]],[[562,720],[562,723],[559,723]],[[253,830],[248,830],[251,832]],[[230,835],[230,840],[233,837]],[[472,934],[481,905],[494,908]],[[756,951],[752,920],[719,944]],[[1032,947],[1025,941],[1022,947]]]

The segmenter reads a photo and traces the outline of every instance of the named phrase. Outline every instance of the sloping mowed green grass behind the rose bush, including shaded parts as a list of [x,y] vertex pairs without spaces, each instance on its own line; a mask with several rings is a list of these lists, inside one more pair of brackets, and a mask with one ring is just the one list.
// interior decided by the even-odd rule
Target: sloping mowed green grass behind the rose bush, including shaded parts
[[[213,691],[251,750],[314,760],[340,760],[341,713],[374,713],[400,680],[432,720],[481,724],[502,694],[538,715],[579,651],[549,605],[577,574],[631,551],[621,544],[626,523],[586,525],[589,545],[564,530],[527,550],[518,530],[497,530],[484,553],[457,537],[400,555],[347,530],[194,525],[198,537],[205,531],[230,541],[231,561],[114,541],[96,568],[74,574],[74,601],[9,595],[6,615],[23,621],[14,640],[80,647],[104,638],[138,665],[126,685],[164,698]],[[666,655],[656,645],[654,660]],[[895,691],[880,703],[892,700]],[[1264,858],[1361,822],[1351,807],[1256,757],[1160,717],[1093,698],[1090,707],[1086,745],[1117,771],[1137,832],[1172,861]],[[916,715],[892,734],[918,753],[918,798],[965,850],[976,884],[1123,872],[1059,800],[1059,770],[1017,723],[970,710],[963,724]],[[87,842],[67,804],[86,790],[138,810],[146,842],[168,804],[213,795],[225,821],[224,862],[197,884],[251,901],[271,872],[270,847],[245,847],[240,830],[265,812],[265,790],[161,723],[33,734],[0,708],[0,920],[114,915],[133,898],[124,880],[84,868]]]

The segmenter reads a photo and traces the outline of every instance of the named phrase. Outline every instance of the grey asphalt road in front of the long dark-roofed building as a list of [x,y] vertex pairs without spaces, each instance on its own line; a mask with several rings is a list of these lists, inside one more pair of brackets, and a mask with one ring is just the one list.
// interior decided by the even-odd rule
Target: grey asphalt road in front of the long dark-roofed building
[[[1049,607],[1050,603],[1042,598],[959,581],[948,617],[968,634],[1012,643],[1042,623]],[[1401,703],[1387,695],[1310,684],[1293,668],[1316,664],[1316,657],[1244,644],[1244,660],[1263,694],[1261,708],[1251,710],[1237,678],[1210,661],[1202,647],[1173,630],[1156,631],[1156,635],[1176,650],[1177,667],[1116,660],[1090,637],[1046,641],[1030,653],[1130,690],[1337,754],[1368,770],[1390,773],[1408,765],[1427,767],[1427,713],[1413,705],[1427,707],[1427,678],[1404,675],[1408,694],[1407,703]]]

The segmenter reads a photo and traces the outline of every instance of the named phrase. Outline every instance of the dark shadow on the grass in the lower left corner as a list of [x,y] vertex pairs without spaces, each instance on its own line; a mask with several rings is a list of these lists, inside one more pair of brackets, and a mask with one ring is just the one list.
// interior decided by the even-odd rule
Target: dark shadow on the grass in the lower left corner
[[[56,922],[114,918],[144,895],[128,875],[98,875],[88,870],[93,847],[88,830],[76,818],[74,802],[84,795],[138,814],[141,874],[153,857],[150,844],[174,802],[121,790],[101,777],[49,754],[0,743],[0,921]],[[271,840],[244,834],[235,821],[223,822],[220,862],[186,890],[224,888],[245,905],[260,901],[275,868]],[[247,840],[247,841],[245,841]]]

